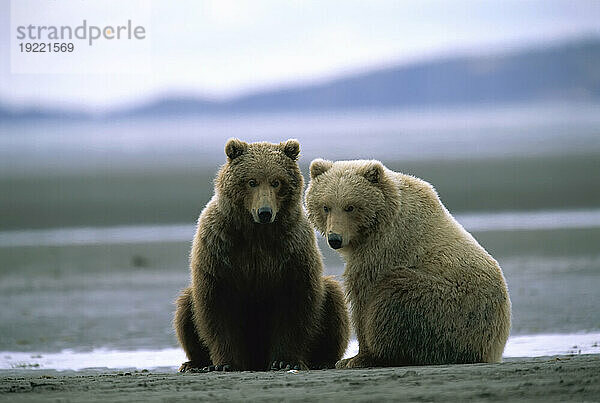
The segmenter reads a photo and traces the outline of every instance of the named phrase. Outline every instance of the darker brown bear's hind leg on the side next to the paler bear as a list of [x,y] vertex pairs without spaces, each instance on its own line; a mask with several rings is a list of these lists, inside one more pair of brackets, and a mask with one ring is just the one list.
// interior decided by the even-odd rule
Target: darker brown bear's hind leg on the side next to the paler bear
[[324,277],[325,298],[318,331],[308,354],[310,368],[334,368],[350,336],[350,320],[342,288],[333,277]]

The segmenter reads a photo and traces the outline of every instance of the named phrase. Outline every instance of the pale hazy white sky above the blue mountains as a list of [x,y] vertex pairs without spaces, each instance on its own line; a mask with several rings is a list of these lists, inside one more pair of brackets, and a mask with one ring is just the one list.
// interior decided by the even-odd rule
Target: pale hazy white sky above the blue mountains
[[[139,3],[151,18],[150,49],[121,60],[127,73],[11,74],[15,33],[10,1],[0,0],[0,102],[110,108],[169,92],[228,97],[441,54],[600,36],[600,0]],[[48,12],[32,9],[31,18],[43,21]],[[106,52],[98,47],[86,57],[103,63]]]

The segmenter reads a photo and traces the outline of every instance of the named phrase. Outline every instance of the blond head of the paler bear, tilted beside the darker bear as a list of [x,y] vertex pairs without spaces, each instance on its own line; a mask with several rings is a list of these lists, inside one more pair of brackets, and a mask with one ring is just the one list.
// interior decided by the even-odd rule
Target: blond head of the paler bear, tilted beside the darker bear
[[310,164],[306,209],[313,226],[333,249],[358,245],[389,216],[393,183],[379,161]]

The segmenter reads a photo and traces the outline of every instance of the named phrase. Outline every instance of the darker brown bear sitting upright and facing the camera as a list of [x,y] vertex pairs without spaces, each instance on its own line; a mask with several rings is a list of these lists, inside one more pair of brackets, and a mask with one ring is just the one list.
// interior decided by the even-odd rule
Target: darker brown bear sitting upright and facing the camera
[[323,368],[342,357],[350,321],[340,285],[322,275],[299,152],[296,140],[227,142],[176,303],[189,359],[180,371]]

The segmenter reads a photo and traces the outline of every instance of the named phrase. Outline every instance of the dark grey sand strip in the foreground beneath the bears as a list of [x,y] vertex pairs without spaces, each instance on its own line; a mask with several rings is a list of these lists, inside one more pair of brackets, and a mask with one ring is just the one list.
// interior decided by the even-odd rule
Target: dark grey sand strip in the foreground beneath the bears
[[600,401],[600,355],[296,373],[10,370],[0,400]]

